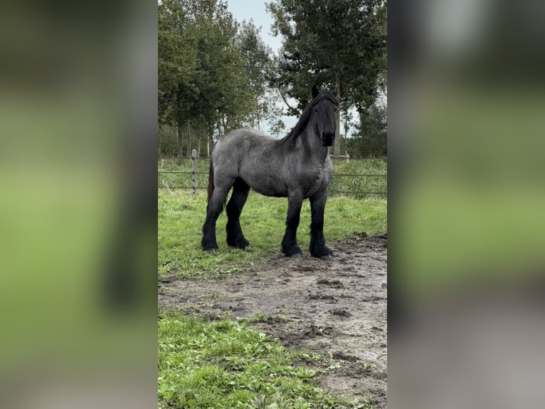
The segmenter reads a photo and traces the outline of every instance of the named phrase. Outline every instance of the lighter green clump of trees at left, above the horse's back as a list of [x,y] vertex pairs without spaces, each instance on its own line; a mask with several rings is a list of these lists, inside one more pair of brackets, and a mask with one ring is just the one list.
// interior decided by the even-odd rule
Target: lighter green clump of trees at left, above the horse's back
[[274,114],[263,68],[271,51],[253,21],[238,24],[222,0],[165,0],[158,9],[159,124],[178,128],[177,155],[184,138],[198,138],[199,150],[201,140]]

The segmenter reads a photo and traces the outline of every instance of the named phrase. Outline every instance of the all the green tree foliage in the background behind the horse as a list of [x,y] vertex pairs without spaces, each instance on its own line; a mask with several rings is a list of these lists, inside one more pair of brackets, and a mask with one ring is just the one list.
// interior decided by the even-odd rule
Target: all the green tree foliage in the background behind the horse
[[[226,1],[158,4],[162,155],[181,157],[185,150],[187,156],[191,148],[202,155],[201,141],[211,147],[229,130],[261,129],[264,122],[272,135],[282,135],[278,101],[298,100],[288,112],[297,115],[313,83],[339,85],[344,115],[357,108],[361,124],[354,143],[373,154],[377,140],[383,145],[385,134],[369,133],[366,124],[367,117],[374,118],[369,109],[378,90],[386,87],[386,1],[277,0],[268,9],[273,32],[284,38],[275,63],[260,27],[252,20],[238,23]],[[165,133],[165,125],[173,126],[176,136]],[[335,152],[339,143],[340,138]]]

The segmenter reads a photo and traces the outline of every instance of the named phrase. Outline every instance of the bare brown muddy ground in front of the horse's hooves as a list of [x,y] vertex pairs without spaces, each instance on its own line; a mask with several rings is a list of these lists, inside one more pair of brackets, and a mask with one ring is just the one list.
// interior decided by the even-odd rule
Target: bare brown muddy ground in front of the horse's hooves
[[186,314],[255,319],[254,328],[288,348],[332,356],[329,393],[371,396],[386,408],[387,237],[356,234],[330,245],[333,260],[272,254],[265,267],[208,279],[164,279],[159,307]]

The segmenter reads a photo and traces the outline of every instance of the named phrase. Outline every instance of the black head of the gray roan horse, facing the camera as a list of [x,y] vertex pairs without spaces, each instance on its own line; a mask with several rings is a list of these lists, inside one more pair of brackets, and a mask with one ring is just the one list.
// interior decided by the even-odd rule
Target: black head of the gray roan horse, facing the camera
[[337,98],[332,91],[319,91],[317,86],[312,86],[314,130],[324,146],[332,146],[335,140],[335,111],[337,105]]

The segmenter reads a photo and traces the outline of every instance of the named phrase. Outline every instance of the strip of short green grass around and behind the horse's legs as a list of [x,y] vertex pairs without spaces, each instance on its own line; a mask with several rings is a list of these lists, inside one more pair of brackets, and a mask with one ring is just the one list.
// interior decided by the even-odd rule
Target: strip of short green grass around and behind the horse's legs
[[[280,254],[285,230],[287,200],[250,192],[240,216],[250,250],[231,249],[226,244],[226,214],[222,212],[216,226],[219,251],[208,254],[201,250],[201,227],[206,217],[206,195],[202,192],[158,195],[159,275],[181,276],[226,274],[240,271],[260,262],[270,252]],[[303,251],[309,247],[310,205],[303,202],[298,244]],[[386,232],[386,200],[355,200],[351,197],[329,197],[325,209],[324,235],[327,242],[351,237],[356,232]]]

